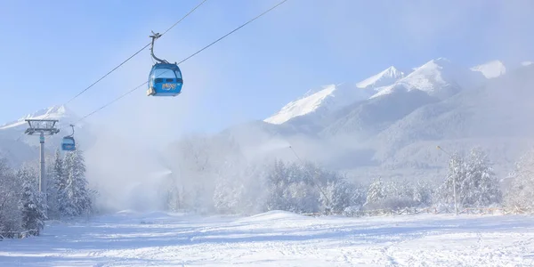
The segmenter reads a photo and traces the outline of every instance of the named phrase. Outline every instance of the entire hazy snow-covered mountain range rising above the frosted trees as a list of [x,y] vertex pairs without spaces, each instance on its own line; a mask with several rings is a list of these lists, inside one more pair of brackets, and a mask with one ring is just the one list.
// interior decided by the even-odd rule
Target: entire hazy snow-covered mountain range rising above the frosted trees
[[435,153],[436,144],[450,150],[481,145],[492,160],[509,166],[534,141],[534,127],[525,123],[534,109],[521,97],[534,86],[534,64],[520,65],[489,61],[469,67],[438,58],[409,73],[392,67],[360,83],[310,91],[264,125],[257,122],[254,131],[242,125],[239,135],[248,136],[248,147],[286,140],[307,150],[308,158],[325,159],[326,166],[376,175],[389,167],[429,175],[425,168],[437,170],[447,162]]

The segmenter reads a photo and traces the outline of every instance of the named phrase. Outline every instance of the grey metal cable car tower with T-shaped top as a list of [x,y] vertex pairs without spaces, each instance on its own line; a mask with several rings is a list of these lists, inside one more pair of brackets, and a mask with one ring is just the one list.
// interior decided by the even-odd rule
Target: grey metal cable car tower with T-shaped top
[[41,165],[39,167],[39,191],[44,193],[44,203],[46,203],[46,169],[44,168],[44,135],[53,135],[60,133],[60,129],[55,127],[58,122],[57,119],[26,119],[28,122],[28,129],[24,134],[35,135],[39,134],[39,142],[41,143]]

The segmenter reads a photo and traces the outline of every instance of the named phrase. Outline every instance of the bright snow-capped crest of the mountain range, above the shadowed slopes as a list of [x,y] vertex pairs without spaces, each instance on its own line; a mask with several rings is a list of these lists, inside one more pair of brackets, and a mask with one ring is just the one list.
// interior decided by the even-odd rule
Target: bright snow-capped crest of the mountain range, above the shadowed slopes
[[324,117],[325,112],[335,112],[354,102],[396,91],[419,90],[430,96],[445,99],[462,89],[481,85],[488,79],[481,71],[490,71],[493,65],[495,63],[479,65],[478,69],[477,67],[468,69],[457,66],[446,58],[438,58],[414,68],[410,73],[402,72],[392,66],[355,85],[327,85],[320,90],[309,91],[264,121],[279,125],[308,114],[321,113],[321,117]]

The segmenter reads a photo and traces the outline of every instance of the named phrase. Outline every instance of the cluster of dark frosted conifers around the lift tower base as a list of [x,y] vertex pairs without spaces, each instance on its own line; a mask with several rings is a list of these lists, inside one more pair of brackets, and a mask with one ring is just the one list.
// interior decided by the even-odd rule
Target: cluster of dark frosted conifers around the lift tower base
[[39,191],[38,164],[12,169],[0,158],[0,235],[8,238],[17,232],[39,235],[44,221],[91,214],[96,191],[87,187],[82,151],[61,156],[56,151],[49,161],[47,195]]

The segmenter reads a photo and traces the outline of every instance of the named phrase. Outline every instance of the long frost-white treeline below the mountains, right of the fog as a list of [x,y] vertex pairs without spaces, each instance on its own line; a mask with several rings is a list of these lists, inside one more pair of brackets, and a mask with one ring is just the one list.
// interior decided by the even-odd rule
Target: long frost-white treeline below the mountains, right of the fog
[[[239,150],[235,144],[228,148]],[[376,177],[367,184],[353,182],[344,174],[309,162],[270,160],[267,164],[265,161],[243,164],[239,157],[229,156],[232,155],[229,152],[223,153],[226,158],[219,160],[223,164],[217,165],[210,160],[209,153],[199,153],[193,146],[188,147],[188,152],[188,157],[195,159],[188,166],[200,163],[197,170],[202,177],[194,172],[183,174],[182,178],[191,177],[188,182],[176,180],[172,186],[167,186],[167,196],[171,200],[167,205],[169,210],[221,214],[255,214],[275,209],[351,214],[363,209],[430,206],[453,210],[455,191],[459,208],[528,208],[534,201],[534,152],[522,158],[506,183],[494,173],[488,155],[475,148],[464,156],[452,155],[448,174],[441,182],[392,181]]]

